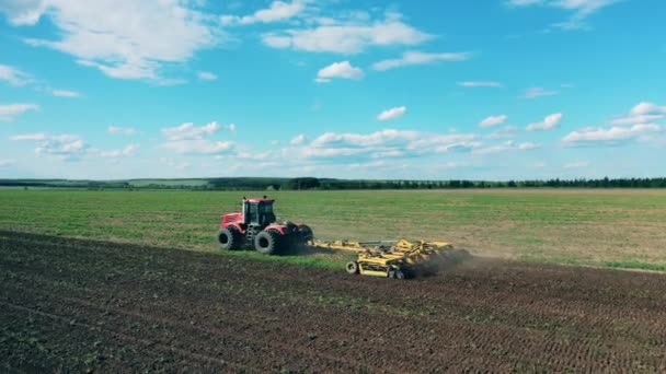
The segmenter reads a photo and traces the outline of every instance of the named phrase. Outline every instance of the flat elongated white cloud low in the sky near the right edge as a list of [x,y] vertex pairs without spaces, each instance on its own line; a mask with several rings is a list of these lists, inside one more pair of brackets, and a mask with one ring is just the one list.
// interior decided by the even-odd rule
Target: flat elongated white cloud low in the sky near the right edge
[[640,124],[632,127],[584,128],[570,132],[562,139],[569,145],[620,144],[633,140],[650,140],[666,130],[664,126]]

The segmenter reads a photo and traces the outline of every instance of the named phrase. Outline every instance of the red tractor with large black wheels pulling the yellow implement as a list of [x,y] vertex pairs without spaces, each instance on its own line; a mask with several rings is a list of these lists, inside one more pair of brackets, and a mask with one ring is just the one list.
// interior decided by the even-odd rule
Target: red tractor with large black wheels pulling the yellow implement
[[222,249],[254,248],[266,255],[282,255],[313,238],[306,224],[275,223],[274,199],[243,197],[242,211],[222,215],[217,241]]

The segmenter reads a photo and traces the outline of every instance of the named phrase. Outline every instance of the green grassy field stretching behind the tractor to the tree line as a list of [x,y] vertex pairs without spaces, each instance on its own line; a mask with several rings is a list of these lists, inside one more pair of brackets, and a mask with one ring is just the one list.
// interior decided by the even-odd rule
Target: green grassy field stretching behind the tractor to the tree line
[[[219,217],[238,210],[242,196],[2,189],[0,227],[218,252],[214,236]],[[322,239],[447,239],[481,256],[666,270],[666,190],[276,191],[271,196],[277,199],[278,219],[308,223]],[[277,260],[336,266],[342,259],[319,254]]]

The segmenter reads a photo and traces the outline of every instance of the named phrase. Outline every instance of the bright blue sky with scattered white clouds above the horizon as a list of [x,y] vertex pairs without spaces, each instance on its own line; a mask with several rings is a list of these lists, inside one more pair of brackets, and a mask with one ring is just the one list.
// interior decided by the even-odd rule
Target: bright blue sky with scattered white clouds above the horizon
[[665,176],[664,14],[2,0],[0,177]]

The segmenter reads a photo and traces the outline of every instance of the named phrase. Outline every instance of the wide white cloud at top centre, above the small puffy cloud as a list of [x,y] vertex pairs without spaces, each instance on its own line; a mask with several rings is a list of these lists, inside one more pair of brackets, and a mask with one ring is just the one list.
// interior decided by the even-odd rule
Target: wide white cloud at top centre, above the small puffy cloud
[[292,48],[313,52],[358,54],[370,46],[416,45],[432,36],[403,23],[398,13],[384,20],[323,24],[313,28],[290,28],[262,35],[273,48]]

